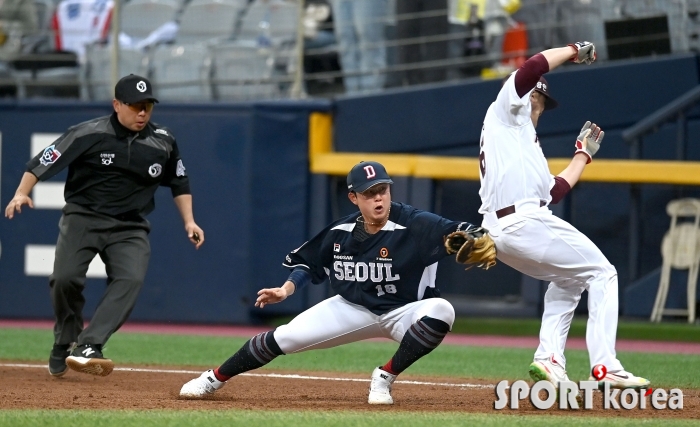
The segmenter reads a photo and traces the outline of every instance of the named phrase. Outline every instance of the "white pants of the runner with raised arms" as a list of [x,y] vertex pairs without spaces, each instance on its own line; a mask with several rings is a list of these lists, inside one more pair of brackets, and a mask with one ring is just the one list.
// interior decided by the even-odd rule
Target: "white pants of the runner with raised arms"
[[[540,346],[535,359],[554,355],[566,363],[564,348],[574,309],[588,290],[586,345],[591,367],[622,369],[615,353],[618,318],[617,270],[598,247],[547,207],[516,205],[500,220],[490,213],[484,227],[493,230],[498,259],[521,273],[549,281],[544,297]],[[489,227],[490,226],[490,227]]]

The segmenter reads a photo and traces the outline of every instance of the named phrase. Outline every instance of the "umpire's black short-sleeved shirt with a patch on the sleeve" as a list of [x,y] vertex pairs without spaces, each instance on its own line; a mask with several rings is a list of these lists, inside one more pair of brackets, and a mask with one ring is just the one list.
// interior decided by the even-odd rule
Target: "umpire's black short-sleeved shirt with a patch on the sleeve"
[[149,122],[140,132],[116,113],[72,126],[27,163],[45,181],[68,167],[64,197],[110,216],[145,216],[159,185],[190,194],[189,178],[170,130]]

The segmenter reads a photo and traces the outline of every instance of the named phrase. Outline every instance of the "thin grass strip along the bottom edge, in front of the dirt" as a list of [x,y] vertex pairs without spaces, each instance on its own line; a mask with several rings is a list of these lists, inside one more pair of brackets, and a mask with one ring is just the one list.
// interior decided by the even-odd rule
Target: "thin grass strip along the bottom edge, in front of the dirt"
[[[510,414],[467,414],[449,412],[315,412],[315,411],[0,411],[0,426],[13,427],[214,427],[214,426],[616,426],[658,425],[658,419],[522,416]],[[692,426],[697,421],[663,420],[664,426]]]

